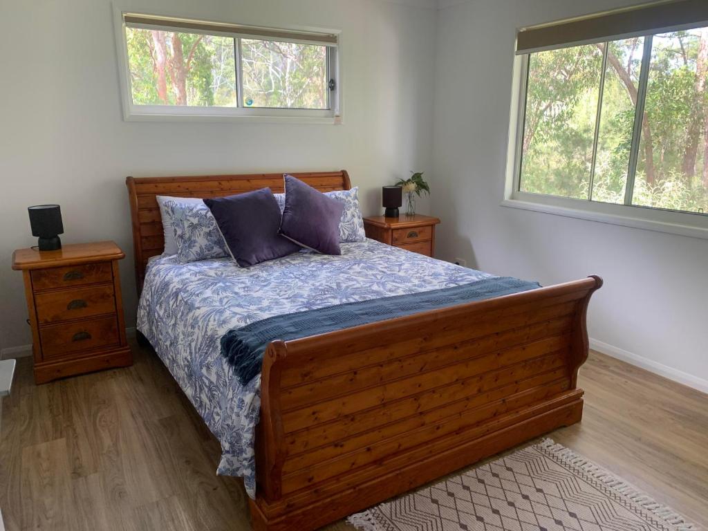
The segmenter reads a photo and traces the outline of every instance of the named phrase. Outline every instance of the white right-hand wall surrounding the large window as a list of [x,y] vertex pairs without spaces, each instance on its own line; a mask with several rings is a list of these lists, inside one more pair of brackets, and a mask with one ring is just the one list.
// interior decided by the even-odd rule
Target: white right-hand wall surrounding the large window
[[708,240],[499,206],[515,29],[629,3],[474,0],[438,11],[438,256],[545,285],[601,275],[595,346],[708,391]]

